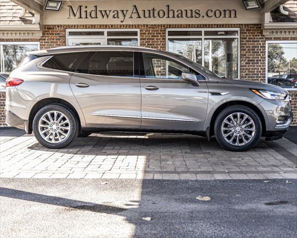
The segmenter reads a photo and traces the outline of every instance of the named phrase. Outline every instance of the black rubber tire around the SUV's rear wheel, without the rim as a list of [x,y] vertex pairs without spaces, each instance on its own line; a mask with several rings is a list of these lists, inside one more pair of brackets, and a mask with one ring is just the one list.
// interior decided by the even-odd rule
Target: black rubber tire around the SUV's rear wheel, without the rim
[[[47,112],[50,112],[50,111],[57,111],[57,112],[64,114],[69,121],[69,124],[68,124],[70,126],[69,134],[61,142],[50,143],[49,141],[47,141],[46,139],[44,139],[42,137],[42,135],[39,131],[40,119],[43,117],[44,114],[46,114]],[[48,147],[50,149],[59,149],[59,148],[63,148],[65,146],[69,145],[78,135],[78,131],[79,131],[78,125],[79,125],[78,119],[75,117],[75,114],[71,110],[69,110],[61,105],[57,105],[57,104],[50,104],[50,105],[45,106],[44,108],[40,109],[33,119],[33,131],[34,131],[34,135],[35,135],[36,139],[38,140],[38,142],[40,144],[42,144],[43,146]]]

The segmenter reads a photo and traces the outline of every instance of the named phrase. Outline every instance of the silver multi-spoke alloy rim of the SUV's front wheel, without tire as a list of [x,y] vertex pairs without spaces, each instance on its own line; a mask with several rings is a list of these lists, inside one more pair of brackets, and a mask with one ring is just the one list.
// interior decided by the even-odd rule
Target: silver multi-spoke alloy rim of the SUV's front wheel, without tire
[[221,132],[229,144],[243,146],[254,137],[255,123],[245,113],[232,113],[223,120]]

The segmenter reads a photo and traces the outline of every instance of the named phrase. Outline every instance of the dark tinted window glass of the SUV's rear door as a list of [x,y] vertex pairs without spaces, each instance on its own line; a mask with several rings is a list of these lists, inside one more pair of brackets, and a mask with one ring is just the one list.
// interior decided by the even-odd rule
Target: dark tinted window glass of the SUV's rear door
[[133,77],[133,52],[99,51],[89,62],[89,74]]

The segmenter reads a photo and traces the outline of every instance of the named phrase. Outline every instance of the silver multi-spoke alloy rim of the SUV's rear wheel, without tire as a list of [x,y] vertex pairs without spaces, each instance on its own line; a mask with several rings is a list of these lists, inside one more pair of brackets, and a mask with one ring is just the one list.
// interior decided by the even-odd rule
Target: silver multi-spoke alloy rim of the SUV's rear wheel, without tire
[[60,143],[70,134],[69,119],[61,112],[49,111],[45,113],[38,123],[39,133],[50,143]]

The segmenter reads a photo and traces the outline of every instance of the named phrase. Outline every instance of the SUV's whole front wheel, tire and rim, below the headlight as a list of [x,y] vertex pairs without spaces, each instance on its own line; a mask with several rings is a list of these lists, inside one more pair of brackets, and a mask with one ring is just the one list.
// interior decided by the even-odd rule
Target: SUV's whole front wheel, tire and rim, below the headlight
[[231,106],[216,118],[214,133],[224,149],[246,151],[254,147],[261,138],[261,120],[246,106]]

